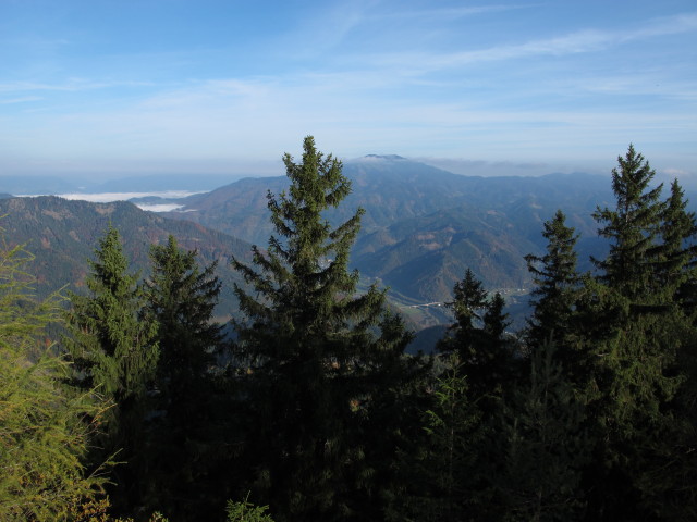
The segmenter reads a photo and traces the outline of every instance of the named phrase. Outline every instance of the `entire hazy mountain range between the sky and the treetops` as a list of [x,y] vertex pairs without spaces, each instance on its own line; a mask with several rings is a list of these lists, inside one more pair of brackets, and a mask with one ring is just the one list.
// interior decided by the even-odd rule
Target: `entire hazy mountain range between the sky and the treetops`
[[[364,285],[389,287],[390,301],[416,328],[448,321],[439,304],[451,299],[468,268],[488,289],[503,291],[513,309],[524,307],[531,281],[523,258],[541,253],[542,223],[559,208],[582,234],[582,270],[589,253],[602,254],[591,213],[611,204],[610,176],[473,177],[395,156],[350,161],[343,172],[352,194],[327,219],[339,224],[365,209],[351,264]],[[219,315],[225,316],[236,311],[232,284],[241,283],[229,268],[230,256],[248,260],[250,244],[267,245],[273,233],[267,194],[286,187],[285,176],[243,178],[180,199],[178,211],[158,214],[129,202],[12,198],[0,200],[0,214],[7,214],[0,226],[13,243],[28,243],[40,282],[76,288],[109,223],[121,231],[126,253],[144,273],[148,245],[173,234],[184,248],[199,250],[201,263],[218,261],[224,286]]]

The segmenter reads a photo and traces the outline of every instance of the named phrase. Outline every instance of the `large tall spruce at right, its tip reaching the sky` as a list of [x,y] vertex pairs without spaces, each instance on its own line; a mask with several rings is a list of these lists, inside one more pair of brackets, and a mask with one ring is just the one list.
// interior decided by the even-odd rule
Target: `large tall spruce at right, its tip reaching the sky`
[[651,477],[663,473],[681,437],[670,410],[683,381],[677,355],[692,326],[674,300],[685,281],[683,269],[671,265],[689,264],[676,253],[689,226],[678,227],[681,238],[671,238],[665,219],[685,217],[682,195],[674,188],[672,201],[661,201],[653,176],[629,146],[612,172],[616,207],[594,214],[610,251],[596,260],[597,281],[583,290],[587,331],[601,334],[587,338],[584,361],[597,464],[586,480],[599,486],[589,512],[603,520],[658,515],[671,486]]

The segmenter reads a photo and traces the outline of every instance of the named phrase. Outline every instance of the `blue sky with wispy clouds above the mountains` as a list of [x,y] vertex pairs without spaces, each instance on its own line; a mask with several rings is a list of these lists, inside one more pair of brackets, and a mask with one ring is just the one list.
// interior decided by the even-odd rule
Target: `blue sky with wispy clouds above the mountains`
[[0,175],[350,159],[697,178],[697,3],[0,0]]

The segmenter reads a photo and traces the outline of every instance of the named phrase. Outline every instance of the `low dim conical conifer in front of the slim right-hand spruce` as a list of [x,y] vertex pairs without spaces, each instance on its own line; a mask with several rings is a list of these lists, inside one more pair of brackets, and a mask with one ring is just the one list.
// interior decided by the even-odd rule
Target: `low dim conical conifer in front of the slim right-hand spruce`
[[582,471],[590,456],[585,411],[554,345],[533,350],[527,378],[506,405],[505,459],[494,480],[504,520],[578,520],[585,501]]

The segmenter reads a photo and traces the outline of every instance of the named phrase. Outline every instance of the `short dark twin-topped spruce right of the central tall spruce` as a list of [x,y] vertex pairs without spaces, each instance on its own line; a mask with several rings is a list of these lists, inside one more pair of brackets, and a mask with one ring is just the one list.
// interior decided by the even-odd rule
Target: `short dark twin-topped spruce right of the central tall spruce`
[[[496,293],[489,298],[470,270],[455,285],[453,294],[455,299],[449,306],[456,322],[451,326],[450,335],[439,344],[439,349],[455,353],[457,363],[447,368],[445,380],[438,386],[457,384],[458,400],[468,405],[467,413],[461,412],[457,422],[472,422],[473,419],[479,422],[476,426],[452,433],[457,437],[457,444],[467,448],[463,456],[467,455],[469,465],[457,470],[457,487],[464,493],[456,500],[458,509],[448,517],[451,520],[499,520],[503,515],[503,504],[497,496],[497,480],[504,465],[503,451],[506,447],[499,419],[503,414],[505,398],[518,378],[519,363],[514,345],[505,334],[509,322],[501,294]],[[439,394],[447,389],[436,391],[440,402]],[[440,408],[443,406],[441,403]],[[431,417],[431,420],[436,419]],[[430,440],[431,444],[433,442],[437,439]],[[442,450],[437,446],[428,451]],[[442,470],[440,475],[441,481],[445,478]],[[436,498],[440,498],[440,502],[444,500],[442,493]]]

